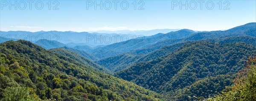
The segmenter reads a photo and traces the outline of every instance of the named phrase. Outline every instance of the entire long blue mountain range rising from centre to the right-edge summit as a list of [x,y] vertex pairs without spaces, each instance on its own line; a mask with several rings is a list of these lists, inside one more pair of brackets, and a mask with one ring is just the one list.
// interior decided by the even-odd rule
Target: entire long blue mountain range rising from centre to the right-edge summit
[[106,58],[122,53],[147,54],[166,45],[178,42],[226,38],[230,36],[256,36],[256,23],[248,23],[226,31],[195,32],[182,29],[167,34],[156,34],[145,38],[131,39],[96,48],[91,53],[99,58]]

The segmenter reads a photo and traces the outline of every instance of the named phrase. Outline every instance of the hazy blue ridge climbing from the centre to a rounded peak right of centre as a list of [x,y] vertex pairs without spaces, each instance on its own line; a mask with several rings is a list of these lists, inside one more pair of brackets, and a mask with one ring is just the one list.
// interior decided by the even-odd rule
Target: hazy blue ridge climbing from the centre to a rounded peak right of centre
[[151,46],[151,44],[161,42],[166,39],[173,39],[173,38],[182,38],[188,36],[190,34],[195,33],[192,30],[183,29],[175,32],[169,32],[167,34],[157,35],[155,37],[139,37],[136,39],[130,39],[125,42],[118,42],[111,45],[107,45],[102,48],[96,48],[92,51],[92,53],[99,57],[100,59],[119,55],[125,52],[132,51],[138,48],[144,48],[146,46]]

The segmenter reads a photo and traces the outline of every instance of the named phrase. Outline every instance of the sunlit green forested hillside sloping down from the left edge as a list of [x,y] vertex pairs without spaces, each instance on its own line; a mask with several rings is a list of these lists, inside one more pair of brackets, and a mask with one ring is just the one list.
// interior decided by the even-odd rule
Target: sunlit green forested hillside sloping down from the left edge
[[61,101],[147,100],[161,95],[19,40],[0,44],[0,98]]

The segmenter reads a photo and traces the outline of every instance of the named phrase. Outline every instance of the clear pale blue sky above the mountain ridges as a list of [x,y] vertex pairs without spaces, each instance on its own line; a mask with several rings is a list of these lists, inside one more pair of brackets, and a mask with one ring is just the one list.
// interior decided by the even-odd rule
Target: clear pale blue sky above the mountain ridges
[[[256,22],[256,0],[229,0],[227,2],[225,0],[142,0],[141,2],[136,0],[136,10],[134,10],[135,0],[56,1],[49,3],[49,0],[41,0],[37,6],[35,5],[37,1],[34,1],[31,3],[30,10],[28,1],[0,0],[0,30],[81,32],[187,28],[197,31],[213,31]],[[101,1],[102,6],[96,6],[95,10],[95,2],[100,4]],[[11,6],[10,3],[12,3]],[[44,4],[43,7],[41,3]],[[126,3],[129,6],[126,6]],[[181,6],[181,9],[180,3],[185,4]],[[54,7],[56,5],[58,6]]]

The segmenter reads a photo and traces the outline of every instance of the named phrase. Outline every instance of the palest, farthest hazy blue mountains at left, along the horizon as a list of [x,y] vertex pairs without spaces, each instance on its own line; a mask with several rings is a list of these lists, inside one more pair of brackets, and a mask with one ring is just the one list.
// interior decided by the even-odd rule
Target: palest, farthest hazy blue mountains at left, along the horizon
[[24,39],[36,42],[39,39],[54,40],[68,46],[87,45],[95,47],[98,45],[110,45],[116,42],[136,38],[133,34],[102,34],[73,31],[0,31],[2,37],[8,39]]

